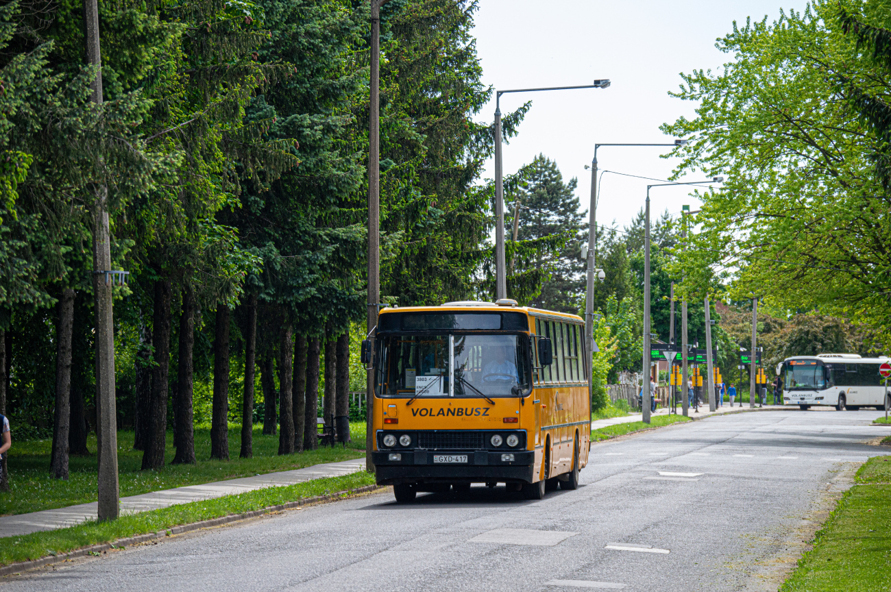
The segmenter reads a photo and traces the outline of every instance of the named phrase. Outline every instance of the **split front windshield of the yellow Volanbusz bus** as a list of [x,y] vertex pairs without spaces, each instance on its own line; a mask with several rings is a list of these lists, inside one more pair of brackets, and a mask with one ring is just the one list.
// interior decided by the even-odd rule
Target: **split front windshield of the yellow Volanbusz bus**
[[384,335],[375,388],[380,396],[525,395],[531,388],[527,341],[504,334]]

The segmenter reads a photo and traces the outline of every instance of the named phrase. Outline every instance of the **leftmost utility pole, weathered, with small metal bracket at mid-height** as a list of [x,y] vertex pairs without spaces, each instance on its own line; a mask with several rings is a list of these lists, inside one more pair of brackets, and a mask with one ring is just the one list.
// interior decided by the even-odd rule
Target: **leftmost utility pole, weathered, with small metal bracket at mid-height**
[[[84,1],[86,20],[86,61],[93,67],[91,101],[102,106],[102,54],[99,43],[99,8],[96,0]],[[118,411],[115,402],[114,322],[111,293],[114,276],[111,271],[109,236],[108,186],[94,185],[93,204],[93,290],[96,299],[96,415],[99,420],[98,508],[99,520],[117,520],[120,514],[118,483]],[[62,444],[64,445],[64,444]]]

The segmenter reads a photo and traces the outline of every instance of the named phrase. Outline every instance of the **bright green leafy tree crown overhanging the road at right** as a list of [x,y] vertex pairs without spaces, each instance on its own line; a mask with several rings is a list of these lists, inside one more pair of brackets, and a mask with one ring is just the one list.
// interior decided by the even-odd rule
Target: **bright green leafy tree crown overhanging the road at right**
[[672,272],[701,294],[713,270],[734,270],[734,299],[856,320],[884,344],[887,3],[844,5],[850,18],[841,21],[828,0],[747,21],[719,40],[732,56],[723,69],[683,76],[675,96],[699,107],[662,127],[693,138],[675,150],[676,174],[700,169],[726,181],[700,196],[700,231]]

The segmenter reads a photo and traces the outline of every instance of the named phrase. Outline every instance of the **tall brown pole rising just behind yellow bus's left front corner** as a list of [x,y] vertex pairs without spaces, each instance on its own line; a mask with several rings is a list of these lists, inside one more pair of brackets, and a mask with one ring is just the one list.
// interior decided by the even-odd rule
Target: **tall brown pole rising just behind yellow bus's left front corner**
[[[380,302],[380,7],[389,0],[372,3],[372,63],[368,102],[368,338],[378,326]],[[365,470],[374,472],[374,370],[368,370],[365,386]]]

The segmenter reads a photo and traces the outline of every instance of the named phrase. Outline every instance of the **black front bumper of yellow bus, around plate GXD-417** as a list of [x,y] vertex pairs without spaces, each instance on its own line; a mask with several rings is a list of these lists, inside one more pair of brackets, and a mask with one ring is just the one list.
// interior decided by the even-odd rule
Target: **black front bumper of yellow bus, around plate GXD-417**
[[[372,452],[379,485],[394,483],[532,483],[535,465],[534,450],[399,450]],[[513,460],[502,460],[504,454]],[[437,463],[435,456],[467,456],[467,463]]]

